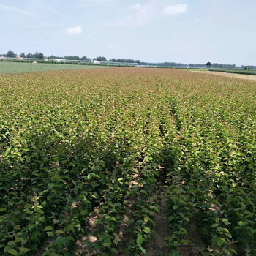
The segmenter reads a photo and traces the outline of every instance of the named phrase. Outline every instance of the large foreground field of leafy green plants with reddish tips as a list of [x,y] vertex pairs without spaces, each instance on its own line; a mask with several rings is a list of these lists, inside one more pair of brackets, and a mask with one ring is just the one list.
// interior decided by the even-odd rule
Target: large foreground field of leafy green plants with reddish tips
[[117,67],[0,91],[0,255],[146,255],[163,201],[169,255],[191,222],[201,255],[256,255],[255,81]]

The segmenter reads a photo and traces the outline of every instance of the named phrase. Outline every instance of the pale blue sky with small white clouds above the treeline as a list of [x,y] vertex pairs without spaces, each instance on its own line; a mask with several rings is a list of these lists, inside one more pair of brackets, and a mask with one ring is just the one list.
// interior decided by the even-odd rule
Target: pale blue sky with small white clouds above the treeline
[[0,0],[0,54],[256,65],[255,0]]

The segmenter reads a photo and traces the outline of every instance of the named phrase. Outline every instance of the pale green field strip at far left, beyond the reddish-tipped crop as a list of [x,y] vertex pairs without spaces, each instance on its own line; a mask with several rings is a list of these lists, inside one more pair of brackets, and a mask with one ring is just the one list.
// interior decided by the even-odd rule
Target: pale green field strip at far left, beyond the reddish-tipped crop
[[80,64],[42,64],[42,63],[21,63],[0,61],[0,74],[18,73],[18,72],[37,72],[49,70],[67,70],[67,69],[95,69],[104,68],[99,65],[80,65]]

